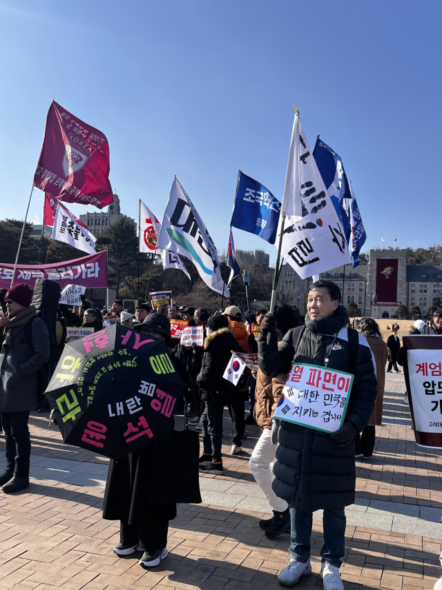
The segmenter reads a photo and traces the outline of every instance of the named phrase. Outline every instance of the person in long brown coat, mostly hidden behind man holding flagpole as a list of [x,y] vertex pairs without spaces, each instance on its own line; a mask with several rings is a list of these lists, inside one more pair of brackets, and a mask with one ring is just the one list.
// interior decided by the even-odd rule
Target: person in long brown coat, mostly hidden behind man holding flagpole
[[376,401],[372,415],[369,418],[362,434],[359,432],[354,439],[354,456],[359,459],[371,459],[373,456],[374,443],[376,441],[376,425],[382,424],[383,397],[385,390],[385,363],[388,359],[388,348],[381,336],[381,330],[373,318],[361,318],[358,323],[358,332],[362,334],[372,350],[376,363],[376,380],[378,383]]

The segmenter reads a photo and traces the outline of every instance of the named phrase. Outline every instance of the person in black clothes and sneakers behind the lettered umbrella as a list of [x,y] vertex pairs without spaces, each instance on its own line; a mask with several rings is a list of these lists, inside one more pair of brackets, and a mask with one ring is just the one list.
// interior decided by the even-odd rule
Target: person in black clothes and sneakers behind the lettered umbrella
[[[173,341],[166,316],[151,314],[136,328],[137,332],[149,334],[153,339],[163,339],[171,356]],[[171,360],[179,372],[173,356]],[[169,430],[169,436],[153,439],[117,461],[111,459],[106,481],[103,518],[120,521],[120,542],[113,551],[117,555],[144,551],[140,565],[147,568],[159,565],[168,554],[169,520],[176,517],[176,502],[180,501],[177,495],[175,501],[171,499],[182,492],[184,484],[173,481],[175,471],[171,469],[171,446],[167,440],[170,435]],[[164,480],[167,480],[169,497],[164,495]]]

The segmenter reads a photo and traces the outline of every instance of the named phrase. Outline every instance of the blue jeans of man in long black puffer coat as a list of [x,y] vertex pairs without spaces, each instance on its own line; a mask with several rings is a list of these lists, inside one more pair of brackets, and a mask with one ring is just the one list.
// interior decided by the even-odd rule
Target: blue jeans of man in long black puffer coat
[[[290,508],[291,545],[289,553],[302,563],[310,559],[310,536],[313,515],[302,513]],[[345,555],[345,524],[344,509],[325,510],[323,515],[324,545],[320,550],[322,562],[329,562],[340,567]]]

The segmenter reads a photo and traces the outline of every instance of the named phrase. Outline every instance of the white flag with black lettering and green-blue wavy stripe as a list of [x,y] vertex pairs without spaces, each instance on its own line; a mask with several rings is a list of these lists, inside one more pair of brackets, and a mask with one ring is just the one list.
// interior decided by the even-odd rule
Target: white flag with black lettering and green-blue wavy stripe
[[229,297],[229,289],[222,280],[215,244],[177,178],[173,180],[164,212],[158,248],[189,258],[212,291],[220,295],[224,291],[224,296]]

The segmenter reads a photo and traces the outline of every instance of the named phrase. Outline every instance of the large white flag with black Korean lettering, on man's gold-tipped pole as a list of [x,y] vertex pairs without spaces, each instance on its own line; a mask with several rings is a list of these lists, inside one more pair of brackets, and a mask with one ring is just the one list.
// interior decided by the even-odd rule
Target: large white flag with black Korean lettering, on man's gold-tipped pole
[[[296,149],[299,150],[299,180],[296,180],[297,162],[295,161],[296,182],[294,180],[291,186],[296,191],[299,190],[299,193],[289,193],[292,207],[289,211],[294,211],[294,214],[287,216],[285,220],[281,256],[301,278],[307,278],[350,263],[352,259],[338,213],[318,171],[299,117],[297,129],[298,131],[294,129],[294,133],[298,146],[291,146],[291,151],[296,154]],[[296,214],[299,211],[298,201],[300,201],[302,212],[300,219]],[[288,197],[287,202],[289,202]],[[285,211],[284,204],[281,210]],[[278,234],[280,235],[280,230]],[[276,245],[278,245],[279,235]]]

